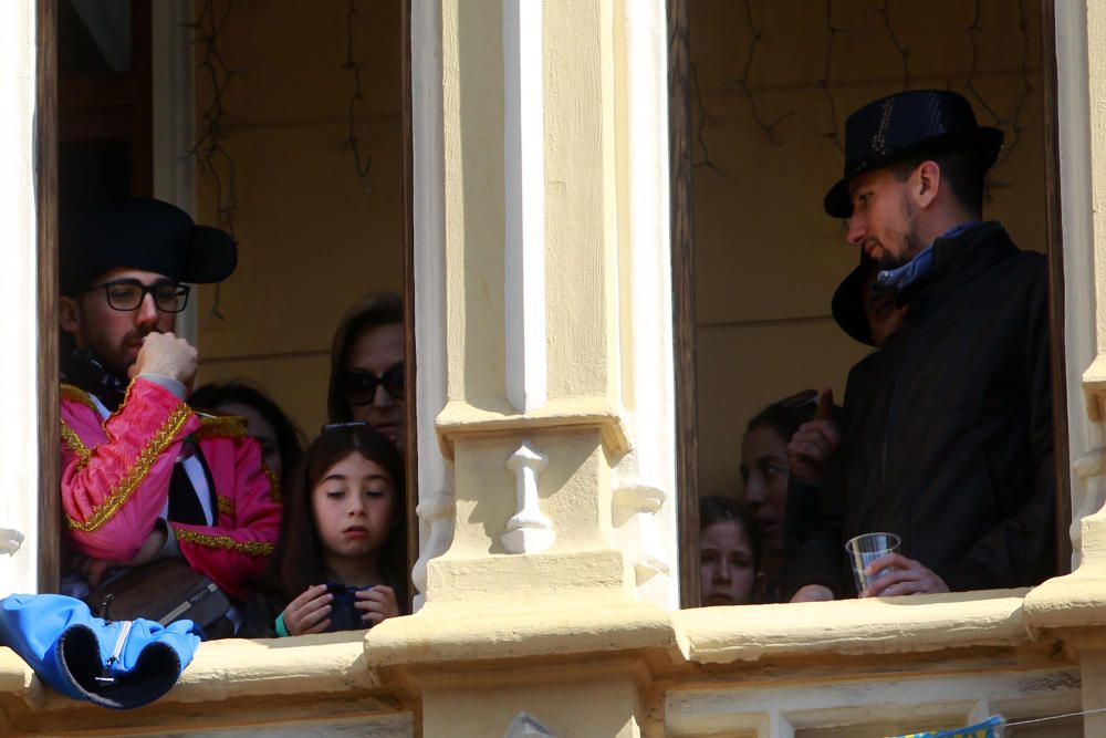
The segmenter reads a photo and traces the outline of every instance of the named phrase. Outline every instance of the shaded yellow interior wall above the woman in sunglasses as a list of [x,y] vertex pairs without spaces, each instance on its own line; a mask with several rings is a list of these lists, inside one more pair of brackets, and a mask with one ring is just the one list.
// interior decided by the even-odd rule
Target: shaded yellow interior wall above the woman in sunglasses
[[[343,69],[346,3],[236,1],[218,41],[236,71],[222,127],[239,266],[220,291],[225,320],[208,315],[215,290],[200,290],[200,381],[261,383],[309,436],[324,422],[338,318],[369,290],[403,289],[400,3],[355,4],[355,132],[373,157],[365,179],[342,145],[354,90]],[[210,91],[199,72],[200,131]],[[197,181],[199,219],[213,222],[213,179],[201,169]]]

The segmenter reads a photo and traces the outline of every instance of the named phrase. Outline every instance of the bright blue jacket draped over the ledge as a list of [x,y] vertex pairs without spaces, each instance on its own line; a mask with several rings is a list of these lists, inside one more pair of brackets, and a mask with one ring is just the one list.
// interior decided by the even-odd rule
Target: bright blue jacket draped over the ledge
[[191,621],[105,621],[61,594],[0,600],[0,645],[58,692],[102,707],[140,707],[167,693],[200,638]]

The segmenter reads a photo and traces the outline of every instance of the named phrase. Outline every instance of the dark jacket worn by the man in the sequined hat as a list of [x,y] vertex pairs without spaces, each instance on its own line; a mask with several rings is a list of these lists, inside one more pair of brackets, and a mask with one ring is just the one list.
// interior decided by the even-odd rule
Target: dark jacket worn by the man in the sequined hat
[[985,222],[938,239],[906,321],[849,372],[842,447],[784,595],[855,594],[844,543],[893,532],[952,591],[1055,573],[1045,257]]

